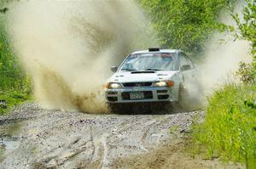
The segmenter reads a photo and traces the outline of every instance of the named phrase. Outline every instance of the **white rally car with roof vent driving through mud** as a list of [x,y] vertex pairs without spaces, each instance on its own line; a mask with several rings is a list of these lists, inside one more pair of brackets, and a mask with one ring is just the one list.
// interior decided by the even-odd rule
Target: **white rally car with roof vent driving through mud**
[[148,48],[128,55],[106,84],[108,104],[177,102],[195,77],[195,65],[181,50]]

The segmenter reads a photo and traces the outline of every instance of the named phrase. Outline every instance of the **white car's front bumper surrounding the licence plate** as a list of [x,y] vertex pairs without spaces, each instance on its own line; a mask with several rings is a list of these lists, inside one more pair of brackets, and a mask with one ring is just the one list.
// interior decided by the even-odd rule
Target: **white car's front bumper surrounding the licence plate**
[[[175,87],[123,87],[106,89],[108,103],[142,103],[142,102],[172,102],[177,101]],[[131,99],[130,93],[143,93],[143,99]]]

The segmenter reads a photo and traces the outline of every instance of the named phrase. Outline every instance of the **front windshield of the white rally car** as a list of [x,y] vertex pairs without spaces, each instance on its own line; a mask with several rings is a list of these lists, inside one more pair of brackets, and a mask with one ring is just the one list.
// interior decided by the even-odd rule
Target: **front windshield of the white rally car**
[[177,70],[175,56],[175,53],[131,54],[120,70]]

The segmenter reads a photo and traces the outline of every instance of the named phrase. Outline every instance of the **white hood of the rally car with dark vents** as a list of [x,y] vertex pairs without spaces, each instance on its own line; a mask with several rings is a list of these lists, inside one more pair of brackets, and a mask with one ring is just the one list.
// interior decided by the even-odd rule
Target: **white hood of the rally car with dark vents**
[[170,80],[177,71],[120,71],[113,74],[108,82],[159,82]]

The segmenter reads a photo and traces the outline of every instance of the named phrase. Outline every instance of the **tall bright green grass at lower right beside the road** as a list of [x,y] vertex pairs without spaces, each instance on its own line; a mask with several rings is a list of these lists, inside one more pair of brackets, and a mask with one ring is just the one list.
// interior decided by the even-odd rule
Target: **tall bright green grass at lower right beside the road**
[[227,84],[209,99],[205,122],[195,126],[196,150],[208,158],[256,167],[256,86]]

